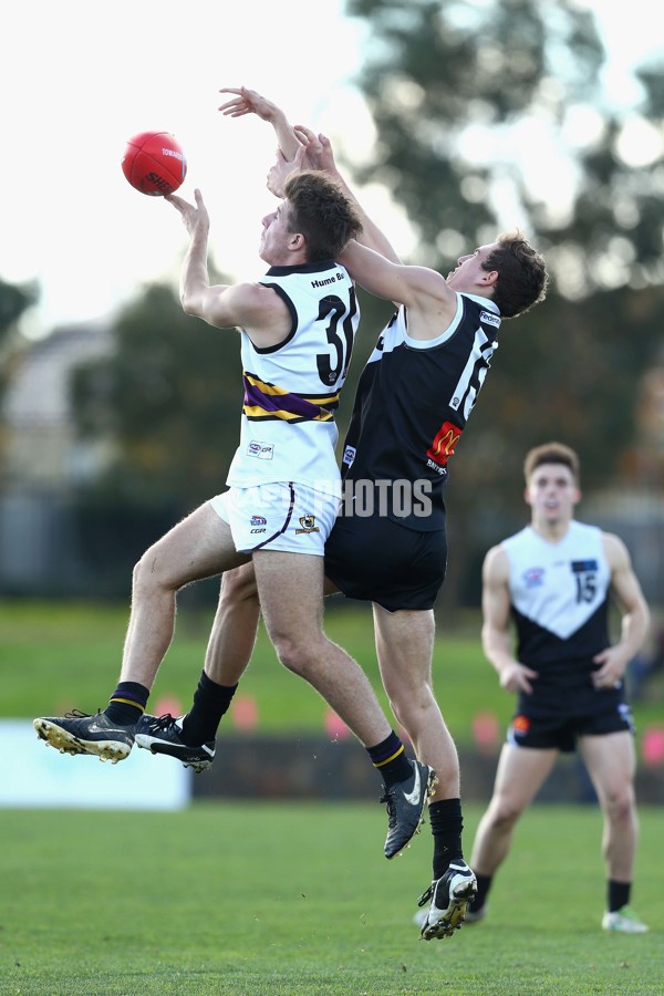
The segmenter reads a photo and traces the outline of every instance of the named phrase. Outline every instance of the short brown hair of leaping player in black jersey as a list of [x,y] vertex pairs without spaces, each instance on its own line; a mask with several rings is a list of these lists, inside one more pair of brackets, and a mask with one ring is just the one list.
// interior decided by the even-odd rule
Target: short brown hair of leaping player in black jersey
[[491,300],[502,318],[516,318],[547,297],[547,266],[520,231],[502,232],[496,241],[481,268],[498,271]]

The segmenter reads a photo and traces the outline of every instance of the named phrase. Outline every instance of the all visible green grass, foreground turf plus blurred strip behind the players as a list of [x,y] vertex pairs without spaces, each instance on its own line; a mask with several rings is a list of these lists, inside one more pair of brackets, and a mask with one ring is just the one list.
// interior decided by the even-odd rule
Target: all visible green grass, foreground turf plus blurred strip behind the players
[[[0,605],[0,716],[103,708],[126,619],[125,606]],[[210,622],[180,611],[153,705],[188,703]],[[436,689],[459,745],[471,744],[478,712],[495,714],[501,734],[511,712],[477,625],[436,646]],[[326,629],[377,687],[370,614],[330,611]],[[323,704],[279,666],[264,634],[242,692],[258,703],[260,732],[322,730]],[[641,727],[661,723],[661,689],[635,712]],[[465,807],[467,854],[480,811]],[[487,921],[427,944],[412,916],[430,876],[428,828],[386,862],[375,803],[0,809],[0,996],[662,996],[662,811],[640,816],[634,905],[650,934],[600,930],[596,808],[540,805],[519,824]]]

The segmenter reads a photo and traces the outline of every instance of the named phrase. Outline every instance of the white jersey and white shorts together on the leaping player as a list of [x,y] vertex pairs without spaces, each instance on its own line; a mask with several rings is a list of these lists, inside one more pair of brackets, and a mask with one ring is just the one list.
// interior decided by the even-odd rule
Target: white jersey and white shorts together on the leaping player
[[240,444],[229,490],[210,504],[238,550],[321,556],[341,494],[334,413],[360,320],[355,288],[334,260],[270,267],[259,283],[283,301],[291,329],[270,347],[241,333]]

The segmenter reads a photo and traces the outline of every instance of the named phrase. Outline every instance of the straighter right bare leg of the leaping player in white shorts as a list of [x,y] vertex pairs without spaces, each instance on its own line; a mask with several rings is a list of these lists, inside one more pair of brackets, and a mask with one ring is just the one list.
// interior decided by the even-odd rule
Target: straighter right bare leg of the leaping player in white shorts
[[263,620],[281,663],[330,704],[365,747],[392,727],[359,664],[322,629],[323,558],[258,551],[253,554]]

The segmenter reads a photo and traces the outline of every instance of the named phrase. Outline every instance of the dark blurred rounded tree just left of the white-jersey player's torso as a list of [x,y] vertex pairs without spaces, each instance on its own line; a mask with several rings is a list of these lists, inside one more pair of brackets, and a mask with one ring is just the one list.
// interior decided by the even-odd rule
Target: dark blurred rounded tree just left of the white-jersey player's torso
[[72,382],[80,435],[112,442],[98,489],[184,515],[222,488],[237,445],[238,336],[186,315],[156,283],[121,312],[114,338],[114,352]]

